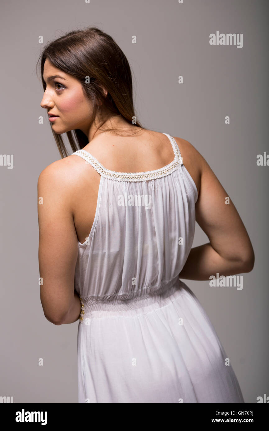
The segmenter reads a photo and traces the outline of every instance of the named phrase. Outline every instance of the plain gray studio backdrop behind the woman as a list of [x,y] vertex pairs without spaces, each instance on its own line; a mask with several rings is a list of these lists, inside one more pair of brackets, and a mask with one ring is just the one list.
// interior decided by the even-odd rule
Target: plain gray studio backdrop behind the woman
[[[256,165],[257,154],[269,152],[268,2],[2,0],[1,9],[0,153],[13,154],[14,167],[0,166],[0,395],[14,403],[77,403],[79,323],[48,322],[39,296],[37,180],[60,155],[40,106],[35,65],[44,46],[38,36],[45,44],[89,25],[114,37],[130,61],[142,125],[190,141],[247,228],[256,261],[242,290],[183,281],[209,315],[245,402],[269,395],[269,167]],[[243,33],[243,47],[209,45],[216,31]],[[196,223],[193,247],[205,242]]]

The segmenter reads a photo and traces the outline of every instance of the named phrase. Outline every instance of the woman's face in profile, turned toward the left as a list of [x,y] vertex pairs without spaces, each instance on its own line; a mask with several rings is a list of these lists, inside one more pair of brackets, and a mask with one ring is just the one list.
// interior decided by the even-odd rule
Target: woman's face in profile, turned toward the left
[[[54,78],[54,75],[59,75]],[[63,72],[46,59],[43,79],[46,83],[40,106],[54,114],[52,129],[57,134],[80,129],[86,135],[92,119],[92,103],[82,91],[81,83],[73,76]]]

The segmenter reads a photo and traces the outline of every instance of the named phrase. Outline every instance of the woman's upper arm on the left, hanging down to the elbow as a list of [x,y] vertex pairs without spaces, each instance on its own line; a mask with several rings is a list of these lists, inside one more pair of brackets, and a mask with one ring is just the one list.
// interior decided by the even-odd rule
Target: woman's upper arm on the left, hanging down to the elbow
[[38,178],[40,298],[44,315],[54,323],[61,321],[73,301],[78,255],[66,167],[63,159],[58,160]]

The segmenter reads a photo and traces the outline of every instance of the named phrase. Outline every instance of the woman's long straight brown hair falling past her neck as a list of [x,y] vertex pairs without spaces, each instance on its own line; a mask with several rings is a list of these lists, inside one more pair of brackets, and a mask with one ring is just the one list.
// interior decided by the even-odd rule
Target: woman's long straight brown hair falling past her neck
[[[136,125],[137,131],[142,125],[137,121],[133,107],[133,83],[129,62],[114,39],[97,27],[70,31],[55,41],[48,42],[43,48],[37,62],[40,63],[41,80],[43,79],[46,59],[58,69],[78,79],[82,90],[93,103],[92,122],[98,129],[110,116],[123,117],[130,125]],[[87,79],[89,77],[89,79]],[[87,83],[89,81],[89,83]],[[108,94],[105,96],[102,85]],[[102,106],[108,110],[108,116],[102,114]],[[96,119],[100,125],[96,125]],[[119,131],[116,128],[105,128]],[[61,157],[68,156],[63,138],[52,130]],[[79,129],[66,132],[73,151],[85,147],[88,137]]]

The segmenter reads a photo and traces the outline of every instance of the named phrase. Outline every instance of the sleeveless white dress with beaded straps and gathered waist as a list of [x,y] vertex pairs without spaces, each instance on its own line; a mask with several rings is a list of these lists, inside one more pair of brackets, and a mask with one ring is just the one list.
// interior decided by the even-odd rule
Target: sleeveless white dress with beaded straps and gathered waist
[[101,175],[89,237],[79,242],[75,288],[79,403],[244,403],[206,312],[179,279],[193,243],[196,185],[174,160]]

